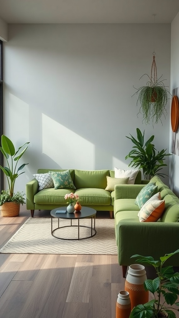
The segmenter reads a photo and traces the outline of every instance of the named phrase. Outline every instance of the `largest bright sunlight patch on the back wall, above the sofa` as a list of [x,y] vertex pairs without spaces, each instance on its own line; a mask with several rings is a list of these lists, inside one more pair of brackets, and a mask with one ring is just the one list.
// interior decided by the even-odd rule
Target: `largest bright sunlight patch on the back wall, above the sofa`
[[62,169],[94,169],[95,146],[42,114],[42,152]]

